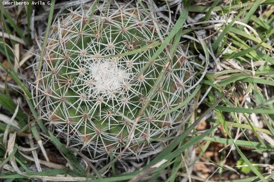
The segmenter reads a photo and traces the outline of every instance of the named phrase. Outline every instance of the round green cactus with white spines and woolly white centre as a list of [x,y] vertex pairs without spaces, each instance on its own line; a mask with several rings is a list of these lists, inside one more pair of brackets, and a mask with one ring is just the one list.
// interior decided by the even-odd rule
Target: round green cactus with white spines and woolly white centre
[[187,45],[179,44],[156,85],[168,46],[145,71],[144,66],[169,27],[132,5],[101,5],[90,12],[67,10],[54,21],[37,78],[36,107],[67,146],[92,155],[116,156],[125,148],[123,154],[153,151],[160,145],[155,139],[175,135],[185,118],[188,106],[159,114],[190,95],[186,90],[197,80],[196,63],[187,59]]

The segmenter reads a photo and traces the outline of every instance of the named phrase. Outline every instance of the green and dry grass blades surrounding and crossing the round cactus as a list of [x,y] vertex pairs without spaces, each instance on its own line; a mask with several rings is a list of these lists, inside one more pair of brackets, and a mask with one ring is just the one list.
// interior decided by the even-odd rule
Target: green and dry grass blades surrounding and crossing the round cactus
[[[237,161],[232,162],[233,164],[230,163],[231,166],[226,166],[228,164],[225,158],[231,149],[230,147],[234,146],[235,153],[233,155],[236,155],[234,157],[237,160],[244,161],[245,164],[248,165],[250,173],[245,174],[243,179],[229,180],[226,178],[226,181],[271,180],[273,177],[272,173],[267,175],[264,168],[259,171],[253,164],[254,162],[262,163],[262,161],[259,160],[259,158],[262,157],[262,153],[270,156],[270,152],[274,151],[274,147],[267,141],[264,135],[267,134],[270,139],[272,139],[274,135],[274,58],[271,56],[274,50],[274,16],[271,14],[272,10],[267,9],[267,6],[273,5],[274,3],[269,0],[247,1],[239,4],[237,4],[237,2],[241,1],[234,2],[236,3],[230,3],[224,6],[222,1],[216,0],[210,5],[197,6],[193,4],[192,1],[184,1],[186,5],[190,3],[190,6],[181,9],[182,13],[169,35],[164,37],[163,42],[154,42],[149,45],[150,47],[160,45],[160,47],[140,74],[146,71],[157,56],[165,50],[168,44],[172,45],[169,52],[170,57],[172,57],[182,35],[188,35],[196,40],[183,39],[186,45],[189,44],[187,49],[193,54],[196,54],[195,61],[201,62],[201,57],[203,57],[204,67],[199,71],[199,82],[194,85],[195,88],[192,90],[190,97],[183,100],[177,106],[172,107],[169,111],[160,114],[165,115],[172,111],[180,110],[185,105],[191,104],[192,110],[188,114],[188,117],[183,118],[184,122],[181,133],[172,138],[152,139],[151,141],[166,141],[167,145],[159,154],[152,156],[142,169],[122,174],[119,173],[116,168],[116,166],[120,164],[120,158],[113,156],[109,157],[107,163],[103,163],[104,165],[98,165],[98,168],[95,170],[89,170],[91,172],[86,171],[83,166],[80,165],[81,155],[62,144],[62,141],[59,141],[58,138],[52,134],[52,131],[44,125],[33,105],[31,90],[26,80],[23,80],[20,75],[21,73],[23,74],[24,69],[21,69],[21,72],[18,73],[13,69],[15,57],[13,52],[14,40],[4,38],[4,36],[1,37],[0,54],[7,59],[9,66],[6,66],[3,62],[0,63],[0,66],[12,79],[2,81],[5,84],[5,88],[2,90],[2,93],[0,93],[0,105],[2,106],[3,114],[12,117],[16,112],[17,103],[14,102],[14,98],[16,97],[23,99],[23,102],[27,105],[24,106],[24,108],[19,107],[15,115],[15,119],[20,128],[8,125],[7,122],[0,122],[0,169],[4,165],[9,164],[13,168],[17,166],[18,168],[16,170],[24,173],[2,169],[2,171],[0,170],[0,178],[5,179],[5,181],[34,181],[35,178],[50,180],[53,179],[54,176],[63,174],[65,177],[59,176],[56,177],[56,180],[86,179],[86,181],[94,182],[127,180],[155,181],[156,179],[162,180],[160,177],[161,174],[166,174],[165,181],[177,181],[177,179],[179,180],[180,178],[179,173],[189,172],[189,168],[193,167],[195,162],[202,160],[208,160],[209,163],[215,166],[214,169],[217,169],[217,172],[214,174],[214,177],[225,177],[226,172],[234,172],[232,169],[241,173],[240,169],[235,168]],[[97,3],[98,2],[95,1],[92,6],[97,6]],[[146,6],[144,1],[139,1],[139,4],[142,7]],[[51,23],[54,19],[54,6],[55,1],[52,1],[47,22],[48,26],[45,30],[45,38],[42,45],[40,68],[42,66],[42,58],[46,49]],[[30,18],[32,7],[27,6],[26,9],[23,10],[25,11],[24,13],[26,13],[26,26],[18,25],[11,15],[11,12],[2,5],[2,2],[0,10],[1,21],[4,22],[1,31],[22,38],[26,44],[24,48],[30,48]],[[94,11],[94,7],[92,10]],[[258,13],[261,10],[264,10],[262,12],[263,14]],[[233,11],[237,13],[232,14]],[[187,17],[195,12],[204,14],[204,17],[200,19],[200,21],[205,22],[188,27],[188,29],[182,28],[187,22]],[[210,31],[207,30],[207,36],[202,37],[196,33],[196,30],[204,29],[204,27],[210,25],[207,21],[210,20],[212,12],[224,16],[226,20],[228,20],[229,17],[231,21],[230,23],[222,24],[222,26],[219,27],[219,33],[215,33],[216,29],[210,29]],[[91,11],[88,21],[92,20],[93,15],[94,12]],[[236,21],[251,26],[256,31],[256,34],[252,31],[247,32],[247,30],[249,30],[248,26],[236,24]],[[126,54],[141,53],[145,49],[147,49],[147,47],[133,50]],[[225,50],[226,52],[224,53]],[[111,57],[119,56],[123,55],[113,55]],[[215,70],[215,72],[207,72],[210,64],[216,67],[214,61],[216,58],[218,58],[221,65],[226,65],[224,66],[225,69],[223,71]],[[229,60],[232,60],[232,62],[229,62]],[[166,63],[168,63],[168,61],[170,60],[167,59]],[[157,87],[165,71],[165,68],[163,68],[139,116],[144,114],[150,99],[157,92]],[[37,74],[39,75],[39,72]],[[8,86],[8,83],[18,85],[20,89],[13,90]],[[267,93],[265,93],[266,90]],[[188,89],[186,89],[186,91],[188,92]],[[202,104],[198,106],[200,101]],[[29,113],[26,113],[26,109],[29,110]],[[209,115],[212,116],[212,114],[214,114],[214,118],[207,117]],[[256,119],[250,117],[251,114],[255,114],[256,119],[263,127],[258,125]],[[207,118],[206,122],[208,127],[202,131],[197,130],[197,125],[204,121],[205,118]],[[14,132],[17,133],[16,144],[11,146],[12,148],[9,149],[10,154],[6,155],[8,145],[5,144],[4,141],[7,141],[9,135]],[[237,138],[239,133],[241,133],[241,136]],[[27,139],[28,134],[36,139],[37,146],[40,148],[37,152],[41,151],[41,155],[39,156],[47,159],[48,151],[45,152],[45,149],[47,149],[47,146],[51,146],[50,149],[53,151],[58,150],[61,154],[58,157],[69,163],[71,168],[66,167],[64,169],[50,170],[42,168],[41,172],[30,172],[28,168],[31,165],[35,165],[35,163],[24,158],[20,154],[20,152],[24,151],[20,151],[21,148],[19,147],[22,145],[22,141]],[[206,155],[207,151],[212,151],[211,146],[216,144],[221,145],[222,148],[226,147],[226,149],[219,153],[219,161],[214,161],[213,158],[209,158]],[[199,149],[200,153],[196,154],[194,161],[190,161],[189,156],[194,149]],[[254,154],[256,157],[250,157],[249,153]],[[228,158],[230,155],[232,154],[230,153]],[[231,158],[227,160],[230,159]],[[13,161],[13,163],[10,163],[11,161]],[[105,173],[108,171],[110,176],[106,177]],[[196,171],[193,171],[192,174],[196,175],[195,172]],[[211,178],[209,180],[211,180]]]

